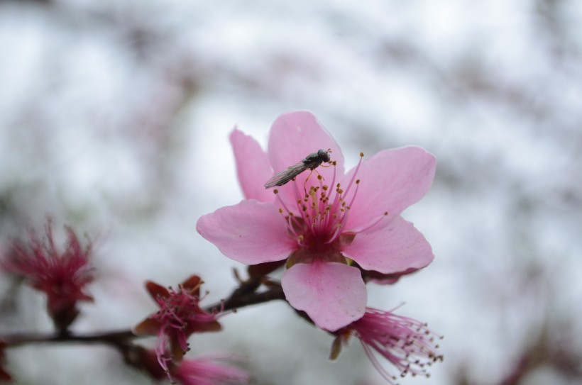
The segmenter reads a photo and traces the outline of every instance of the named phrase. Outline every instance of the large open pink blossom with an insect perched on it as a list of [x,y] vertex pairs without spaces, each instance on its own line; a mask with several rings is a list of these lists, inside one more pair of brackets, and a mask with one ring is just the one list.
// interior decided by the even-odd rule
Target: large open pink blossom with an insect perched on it
[[[358,267],[397,274],[432,262],[429,243],[400,216],[432,184],[435,160],[426,150],[383,150],[344,173],[338,145],[305,111],[277,118],[268,152],[236,129],[231,143],[246,200],[202,216],[197,230],[238,262],[287,260],[287,301],[319,328],[338,330],[363,316],[366,284]],[[319,149],[330,149],[334,160],[317,168],[320,177],[307,171],[265,190],[273,172]]]

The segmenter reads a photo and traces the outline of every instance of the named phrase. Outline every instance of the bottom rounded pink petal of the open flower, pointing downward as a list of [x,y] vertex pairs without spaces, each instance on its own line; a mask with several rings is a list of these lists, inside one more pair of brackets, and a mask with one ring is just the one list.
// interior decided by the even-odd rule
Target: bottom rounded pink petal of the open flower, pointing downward
[[360,271],[347,264],[294,264],[281,284],[291,306],[305,311],[324,330],[343,328],[366,311],[366,284]]

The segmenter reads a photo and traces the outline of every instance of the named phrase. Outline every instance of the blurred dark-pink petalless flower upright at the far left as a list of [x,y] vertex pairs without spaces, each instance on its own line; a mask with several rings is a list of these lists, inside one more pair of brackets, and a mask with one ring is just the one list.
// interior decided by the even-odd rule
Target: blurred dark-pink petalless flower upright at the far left
[[35,289],[45,292],[48,313],[60,330],[65,330],[79,314],[77,301],[93,301],[84,291],[93,280],[89,267],[91,245],[82,248],[72,228],[65,229],[68,242],[64,251],[57,250],[49,221],[44,240],[31,231],[28,244],[13,242],[11,254],[1,262],[7,272],[21,275]]

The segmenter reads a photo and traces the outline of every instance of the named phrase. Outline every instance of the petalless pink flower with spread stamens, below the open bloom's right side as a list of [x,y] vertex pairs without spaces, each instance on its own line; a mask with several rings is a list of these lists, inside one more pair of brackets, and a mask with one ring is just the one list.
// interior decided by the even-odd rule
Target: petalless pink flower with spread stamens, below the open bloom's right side
[[426,368],[443,360],[443,356],[437,354],[439,345],[436,344],[437,340],[442,339],[441,336],[429,330],[425,323],[397,316],[390,311],[366,308],[362,318],[338,330],[336,335],[338,337],[332,347],[332,359],[339,355],[341,342],[346,342],[348,337],[355,335],[360,339],[374,367],[390,384],[395,384],[397,376],[391,375],[378,362],[374,351],[388,359],[400,371],[401,377],[409,373],[412,376],[429,377]]

